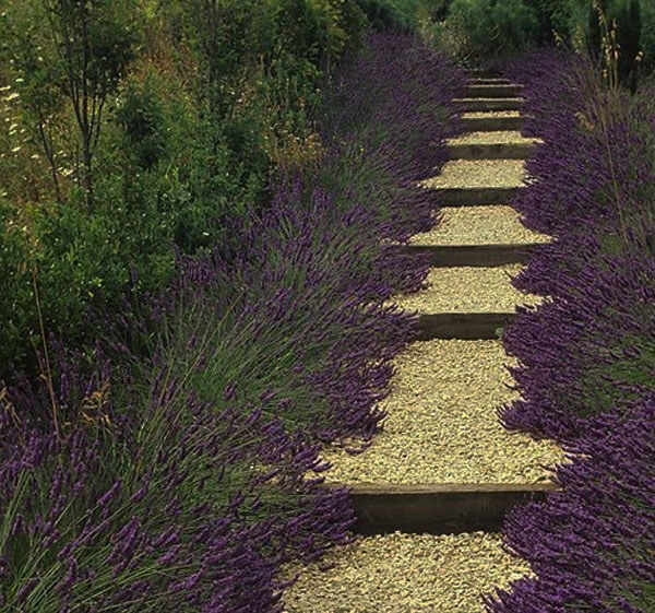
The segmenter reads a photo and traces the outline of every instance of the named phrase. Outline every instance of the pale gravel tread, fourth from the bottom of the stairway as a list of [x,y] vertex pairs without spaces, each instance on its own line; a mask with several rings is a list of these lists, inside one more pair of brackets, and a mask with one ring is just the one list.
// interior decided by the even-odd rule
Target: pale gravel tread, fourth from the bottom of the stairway
[[444,207],[441,223],[416,234],[410,245],[488,245],[498,243],[549,243],[550,236],[527,229],[511,207]]

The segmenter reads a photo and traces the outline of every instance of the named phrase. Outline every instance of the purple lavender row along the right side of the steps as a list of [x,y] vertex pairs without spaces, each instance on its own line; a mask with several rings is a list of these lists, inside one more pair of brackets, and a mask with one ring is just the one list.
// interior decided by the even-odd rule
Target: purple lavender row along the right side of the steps
[[505,545],[535,577],[495,613],[655,606],[655,114],[653,91],[608,91],[580,56],[533,54],[507,67],[526,84],[529,133],[544,139],[514,204],[555,239],[514,280],[549,296],[503,338],[521,399],[510,429],[555,438],[562,492],[507,520]]

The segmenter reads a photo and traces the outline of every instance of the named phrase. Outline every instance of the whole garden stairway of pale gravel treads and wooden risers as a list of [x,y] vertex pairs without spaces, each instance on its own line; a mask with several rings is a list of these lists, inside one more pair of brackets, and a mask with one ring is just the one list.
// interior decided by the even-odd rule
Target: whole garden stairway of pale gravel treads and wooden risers
[[[499,332],[517,303],[509,284],[548,237],[511,209],[523,161],[521,86],[472,74],[456,102],[468,133],[448,143],[437,189],[443,220],[398,247],[429,252],[431,287],[394,302],[420,314],[418,342],[396,361],[384,431],[359,456],[327,449],[327,486],[352,487],[357,542],[305,568],[285,613],[474,613],[479,593],[528,568],[501,550],[510,508],[555,488],[540,464],[561,461],[550,441],[509,434],[495,408],[513,398]],[[289,566],[289,574],[298,568]],[[285,571],[286,571],[285,570]]]

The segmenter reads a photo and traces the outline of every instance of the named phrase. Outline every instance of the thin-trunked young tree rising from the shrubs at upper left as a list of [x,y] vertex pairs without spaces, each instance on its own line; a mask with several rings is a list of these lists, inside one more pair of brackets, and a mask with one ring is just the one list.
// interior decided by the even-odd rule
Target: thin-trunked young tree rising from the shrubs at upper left
[[[24,83],[21,93],[36,117],[36,132],[53,175],[48,118],[62,107],[72,111],[81,150],[74,172],[90,209],[105,103],[133,58],[136,39],[129,15],[134,8],[131,0],[28,0],[20,11],[4,13],[8,43],[2,51]],[[55,187],[61,199],[59,186]]]

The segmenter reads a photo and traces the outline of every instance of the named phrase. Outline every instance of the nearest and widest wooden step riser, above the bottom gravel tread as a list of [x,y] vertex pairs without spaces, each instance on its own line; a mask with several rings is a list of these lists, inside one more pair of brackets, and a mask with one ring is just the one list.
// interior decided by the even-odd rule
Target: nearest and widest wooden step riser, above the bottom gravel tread
[[[343,484],[329,484],[334,487]],[[508,512],[558,491],[543,484],[353,484],[350,500],[362,535],[394,532],[499,532]]]

